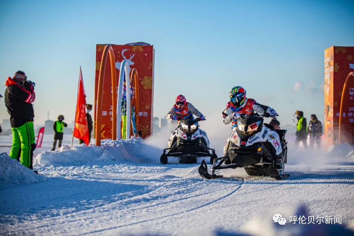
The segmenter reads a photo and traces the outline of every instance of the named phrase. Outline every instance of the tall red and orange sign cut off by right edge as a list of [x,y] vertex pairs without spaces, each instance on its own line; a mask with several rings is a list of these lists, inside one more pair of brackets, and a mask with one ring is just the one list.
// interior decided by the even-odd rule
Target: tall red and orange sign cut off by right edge
[[324,134],[327,145],[339,142],[340,117],[341,136],[354,145],[353,80],[347,84],[341,104],[344,82],[350,72],[354,72],[354,47],[332,46],[324,50]]

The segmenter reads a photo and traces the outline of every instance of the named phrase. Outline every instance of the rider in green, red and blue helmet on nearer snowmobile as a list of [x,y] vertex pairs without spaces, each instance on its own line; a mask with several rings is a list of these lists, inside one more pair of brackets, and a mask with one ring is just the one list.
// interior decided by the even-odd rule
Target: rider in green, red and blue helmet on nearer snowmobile
[[257,103],[252,98],[246,98],[246,90],[236,86],[230,91],[230,102],[226,104],[226,110],[222,113],[224,124],[232,122],[232,128],[237,127],[237,118],[241,115],[251,115],[254,112],[268,114],[275,118],[278,114],[274,109]]

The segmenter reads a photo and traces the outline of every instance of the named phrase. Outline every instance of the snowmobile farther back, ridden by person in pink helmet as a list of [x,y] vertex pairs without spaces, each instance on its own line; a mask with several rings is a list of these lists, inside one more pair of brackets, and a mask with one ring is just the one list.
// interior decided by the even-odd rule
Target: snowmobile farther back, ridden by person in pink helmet
[[178,157],[179,163],[197,163],[198,157],[210,156],[210,163],[213,163],[217,158],[215,150],[209,148],[207,133],[199,128],[198,121],[200,118],[180,120],[170,135],[168,148],[160,157],[162,164],[168,163],[169,156]]

